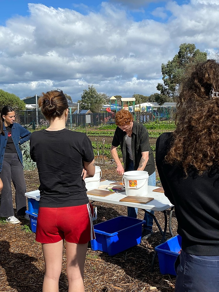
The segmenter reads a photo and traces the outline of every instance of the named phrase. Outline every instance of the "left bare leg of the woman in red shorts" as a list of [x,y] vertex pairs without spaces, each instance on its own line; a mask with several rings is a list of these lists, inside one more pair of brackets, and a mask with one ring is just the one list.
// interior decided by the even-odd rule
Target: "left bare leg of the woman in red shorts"
[[42,244],[45,260],[43,292],[58,292],[59,277],[62,270],[63,240]]

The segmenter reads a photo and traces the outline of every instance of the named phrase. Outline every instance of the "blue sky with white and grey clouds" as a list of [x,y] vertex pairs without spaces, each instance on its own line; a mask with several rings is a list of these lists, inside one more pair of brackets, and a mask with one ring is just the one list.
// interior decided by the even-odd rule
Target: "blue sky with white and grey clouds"
[[[61,9],[60,9],[61,8]],[[0,0],[0,88],[150,95],[182,43],[218,52],[218,0]]]

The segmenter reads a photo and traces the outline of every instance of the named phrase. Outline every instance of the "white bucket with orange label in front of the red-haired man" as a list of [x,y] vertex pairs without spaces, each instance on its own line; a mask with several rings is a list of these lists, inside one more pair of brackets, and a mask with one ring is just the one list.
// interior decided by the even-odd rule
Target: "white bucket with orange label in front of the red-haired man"
[[[126,171],[123,174],[122,184],[126,189],[127,196],[147,197],[147,171]],[[124,183],[123,183],[124,179]]]

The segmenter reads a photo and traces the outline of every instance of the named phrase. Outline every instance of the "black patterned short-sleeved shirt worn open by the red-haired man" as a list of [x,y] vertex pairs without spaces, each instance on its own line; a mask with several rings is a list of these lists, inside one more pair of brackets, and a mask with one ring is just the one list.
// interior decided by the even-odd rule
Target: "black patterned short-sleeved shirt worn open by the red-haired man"
[[[114,147],[121,146],[122,157],[124,162],[124,169],[126,171],[126,166],[128,166],[128,150],[126,147],[126,132],[123,132],[119,127],[116,128],[114,137],[112,140],[112,145]],[[148,131],[142,124],[133,122],[132,134],[131,134],[131,149],[132,158],[134,164],[134,170],[137,170],[142,154],[141,152],[149,151],[149,159],[145,166],[144,171],[147,171],[149,175],[154,173],[154,156],[149,144]]]

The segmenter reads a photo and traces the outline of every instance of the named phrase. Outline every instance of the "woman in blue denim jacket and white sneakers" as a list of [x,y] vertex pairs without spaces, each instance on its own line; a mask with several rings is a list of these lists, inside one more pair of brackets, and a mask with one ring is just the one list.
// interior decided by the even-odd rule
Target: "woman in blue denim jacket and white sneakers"
[[15,204],[17,216],[29,220],[25,214],[26,184],[23,172],[22,152],[19,145],[30,139],[31,133],[15,121],[15,111],[4,106],[1,110],[0,121],[0,178],[3,182],[1,191],[0,217],[6,217],[6,222],[11,224],[20,223],[14,216],[11,180],[15,187]]

